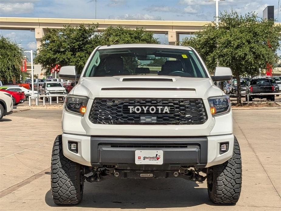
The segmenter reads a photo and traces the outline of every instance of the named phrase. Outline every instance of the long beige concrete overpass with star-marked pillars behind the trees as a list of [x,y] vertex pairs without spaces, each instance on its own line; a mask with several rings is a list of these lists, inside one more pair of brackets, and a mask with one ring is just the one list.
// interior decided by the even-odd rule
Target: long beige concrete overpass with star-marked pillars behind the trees
[[37,48],[47,28],[63,28],[64,25],[79,26],[96,25],[98,31],[108,26],[123,26],[129,29],[144,27],[156,34],[167,34],[170,45],[179,42],[179,34],[193,34],[202,29],[210,21],[152,21],[152,20],[113,20],[113,19],[67,19],[67,18],[13,18],[0,17],[0,29],[32,30],[35,31]]

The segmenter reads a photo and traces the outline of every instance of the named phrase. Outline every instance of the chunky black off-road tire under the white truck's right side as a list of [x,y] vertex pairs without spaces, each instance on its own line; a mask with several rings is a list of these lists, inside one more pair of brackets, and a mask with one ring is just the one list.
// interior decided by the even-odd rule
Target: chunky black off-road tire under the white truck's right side
[[242,185],[242,162],[240,147],[236,137],[232,157],[208,169],[208,195],[215,204],[235,204],[240,196]]

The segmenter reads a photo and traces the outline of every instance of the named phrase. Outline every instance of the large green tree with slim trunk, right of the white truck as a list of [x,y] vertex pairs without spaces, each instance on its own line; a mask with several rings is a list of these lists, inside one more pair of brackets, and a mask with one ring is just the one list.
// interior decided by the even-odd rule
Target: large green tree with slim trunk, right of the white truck
[[203,57],[207,67],[230,67],[237,79],[237,104],[241,104],[240,76],[254,75],[267,64],[277,64],[280,49],[281,26],[273,20],[260,19],[251,12],[244,16],[237,12],[224,12],[214,22],[203,27],[196,36],[186,38],[182,45],[194,47]]

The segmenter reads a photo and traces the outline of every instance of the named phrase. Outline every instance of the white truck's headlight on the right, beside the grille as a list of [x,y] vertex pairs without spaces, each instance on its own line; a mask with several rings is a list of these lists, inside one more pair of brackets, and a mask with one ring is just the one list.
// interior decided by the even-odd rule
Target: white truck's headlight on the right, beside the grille
[[231,110],[230,98],[228,96],[208,98],[212,116],[226,114]]

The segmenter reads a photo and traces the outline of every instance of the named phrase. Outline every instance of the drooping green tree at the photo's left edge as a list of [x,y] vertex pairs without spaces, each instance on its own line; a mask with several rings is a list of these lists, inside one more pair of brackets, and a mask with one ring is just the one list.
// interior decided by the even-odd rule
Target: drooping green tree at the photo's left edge
[[9,39],[0,36],[0,80],[3,82],[18,81],[20,79],[22,50]]

